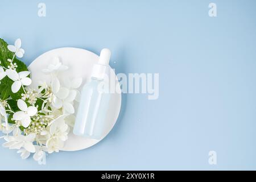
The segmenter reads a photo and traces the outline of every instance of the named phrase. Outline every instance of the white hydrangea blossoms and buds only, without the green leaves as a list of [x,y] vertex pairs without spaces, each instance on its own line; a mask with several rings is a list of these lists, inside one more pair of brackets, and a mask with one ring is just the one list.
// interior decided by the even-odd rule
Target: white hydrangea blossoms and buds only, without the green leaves
[[[8,46],[10,51],[15,52],[13,59],[15,55],[17,57],[23,56],[24,50],[20,47],[20,39],[15,41],[14,46]],[[75,113],[73,102],[80,100],[78,88],[82,84],[82,78],[62,80],[61,77],[57,77],[57,73],[67,70],[68,67],[60,62],[59,57],[54,57],[47,69],[43,69],[44,73],[51,74],[51,85],[47,85],[47,82],[39,82],[39,87],[32,91],[36,93],[36,98],[42,98],[45,101],[42,104],[44,115],[40,115],[37,114],[37,107],[29,102],[29,98],[32,98],[30,96],[32,92],[27,87],[23,87],[30,85],[32,82],[31,78],[28,77],[30,72],[18,73],[15,70],[16,65],[12,65],[13,60],[9,59],[8,61],[10,66],[6,70],[0,67],[0,80],[8,76],[14,81],[11,85],[11,91],[17,93],[22,87],[25,93],[22,99],[17,101],[19,111],[13,114],[16,125],[9,125],[5,111],[6,105],[4,102],[2,104],[0,102],[0,130],[8,134],[1,137],[6,140],[3,146],[18,150],[17,153],[20,154],[22,159],[26,159],[31,153],[34,153],[35,161],[39,164],[46,164],[46,152],[49,154],[59,152],[64,147],[64,142],[68,139],[68,133],[75,123],[75,116],[72,115]],[[44,89],[46,92],[42,93]],[[28,106],[25,101],[32,106]],[[3,121],[5,123],[2,123]],[[26,129],[21,132],[19,126]],[[35,130],[38,129],[37,127],[40,127],[39,132]],[[13,135],[10,135],[11,132],[13,132]],[[36,145],[34,145],[35,141]]]

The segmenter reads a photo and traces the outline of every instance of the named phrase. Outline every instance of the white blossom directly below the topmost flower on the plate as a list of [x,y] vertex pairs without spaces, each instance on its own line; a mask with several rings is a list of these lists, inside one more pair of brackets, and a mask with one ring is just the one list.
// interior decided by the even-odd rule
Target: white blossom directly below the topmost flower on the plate
[[57,77],[52,81],[53,100],[52,105],[56,109],[63,107],[64,113],[73,114],[75,109],[73,107],[73,101],[76,98],[77,92],[75,90],[69,90],[63,86],[60,86],[60,81]]

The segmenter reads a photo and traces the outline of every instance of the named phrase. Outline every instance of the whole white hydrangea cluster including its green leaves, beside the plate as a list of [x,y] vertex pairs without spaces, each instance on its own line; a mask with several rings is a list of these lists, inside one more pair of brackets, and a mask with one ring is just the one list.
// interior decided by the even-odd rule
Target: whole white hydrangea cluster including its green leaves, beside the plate
[[31,88],[30,72],[16,58],[24,54],[21,40],[17,39],[14,46],[5,42],[0,45],[7,47],[2,48],[6,50],[2,55],[11,56],[0,57],[0,131],[4,134],[1,138],[6,140],[3,146],[18,150],[22,159],[34,154],[34,160],[45,164],[46,154],[59,152],[68,139],[75,122],[73,104],[79,101],[77,89],[82,78],[65,78],[61,82],[59,72],[67,71],[68,67],[54,57],[52,64],[42,70],[51,75],[51,81],[39,82],[37,88]]

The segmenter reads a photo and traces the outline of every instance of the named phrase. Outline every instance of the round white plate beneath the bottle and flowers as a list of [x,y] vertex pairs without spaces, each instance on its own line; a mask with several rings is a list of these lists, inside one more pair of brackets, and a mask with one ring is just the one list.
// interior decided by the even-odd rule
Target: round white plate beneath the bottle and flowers
[[[36,58],[28,67],[31,71],[32,85],[37,86],[38,81],[46,81],[49,83],[50,77],[42,72],[43,68],[47,68],[47,65],[51,63],[53,57],[58,56],[60,61],[69,67],[68,71],[65,71],[64,76],[75,78],[82,77],[83,82],[80,87],[90,80],[90,73],[92,71],[93,64],[97,63],[98,55],[93,52],[80,48],[58,48],[43,53],[43,55]],[[110,69],[114,73],[113,69]],[[118,84],[117,77],[115,77],[115,84]],[[117,88],[117,87],[116,87]],[[104,137],[112,130],[115,122],[117,121],[119,111],[121,109],[121,92],[113,93],[110,99],[110,106],[108,110],[108,116],[106,118],[107,127],[104,133]],[[77,110],[77,105],[75,105]],[[103,137],[103,138],[104,138]],[[102,139],[103,139],[102,138]],[[87,139],[84,137],[78,137],[73,135],[72,131],[68,135],[68,140],[65,142],[63,151],[77,151],[93,146],[100,142],[100,140]]]

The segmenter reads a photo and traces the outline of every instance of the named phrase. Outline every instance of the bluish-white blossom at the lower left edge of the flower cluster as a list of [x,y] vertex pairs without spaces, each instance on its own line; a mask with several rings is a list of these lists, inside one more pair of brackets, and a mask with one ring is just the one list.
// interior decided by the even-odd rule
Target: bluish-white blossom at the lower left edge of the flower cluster
[[[35,152],[35,146],[33,145],[33,142],[35,140],[36,134],[31,133],[27,136],[24,136],[21,134],[21,131],[18,127],[16,127],[13,130],[13,136],[7,135],[4,137],[6,140],[5,143],[3,143],[3,147],[8,147],[10,149],[18,149],[24,148],[24,150],[34,153]],[[24,154],[24,150],[20,151],[22,152],[22,157],[24,158],[27,156],[27,154]]]

